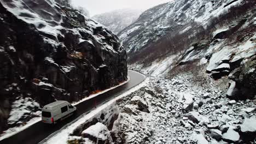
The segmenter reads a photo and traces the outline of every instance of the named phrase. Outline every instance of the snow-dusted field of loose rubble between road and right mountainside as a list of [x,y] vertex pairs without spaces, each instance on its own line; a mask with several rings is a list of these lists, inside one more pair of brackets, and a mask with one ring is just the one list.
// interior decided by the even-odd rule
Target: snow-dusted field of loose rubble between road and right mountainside
[[[215,81],[208,78],[209,81],[205,81],[207,83],[203,85],[207,88],[202,88],[201,83],[190,79],[193,76],[183,74],[176,75],[172,79],[165,79],[162,76],[150,77],[147,87],[118,100],[117,105],[120,109],[118,115],[114,116],[114,120],[112,119],[113,124],[112,120],[109,121],[110,124],[108,123],[110,126],[113,125],[111,129],[113,142],[231,143],[231,140],[233,142],[236,140],[230,135],[236,136],[238,133],[241,133],[241,136],[237,138],[238,141],[247,142],[244,139],[246,135],[240,131],[239,124],[244,121],[240,112],[246,113],[242,109],[254,107],[255,100],[237,100],[235,105],[229,105],[230,99],[225,97],[226,87],[219,89],[221,85],[213,83]],[[222,80],[220,80],[221,82]],[[211,97],[203,99],[205,93],[209,93]],[[199,101],[204,104],[201,107],[196,106],[194,111],[184,111],[185,94],[193,95],[193,97],[187,98],[193,99],[196,104]],[[207,103],[208,100],[211,100],[212,104]],[[137,101],[144,101],[143,103],[148,105],[150,113],[138,110]],[[218,105],[218,109],[214,105]],[[125,112],[127,108],[130,112]],[[248,118],[253,116],[255,113],[251,112]],[[197,137],[196,134],[200,136]],[[225,135],[223,136],[223,134]],[[224,140],[219,138],[221,135],[225,137]],[[195,139],[196,137],[198,139]],[[253,140],[247,140],[253,142]]]

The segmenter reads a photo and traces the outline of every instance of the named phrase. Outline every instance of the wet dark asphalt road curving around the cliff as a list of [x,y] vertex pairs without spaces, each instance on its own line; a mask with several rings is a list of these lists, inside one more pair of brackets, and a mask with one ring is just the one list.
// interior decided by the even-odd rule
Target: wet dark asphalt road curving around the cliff
[[128,75],[130,76],[130,81],[124,84],[123,86],[119,86],[115,89],[112,89],[106,93],[100,94],[97,97],[91,98],[89,100],[83,101],[82,103],[76,105],[78,113],[76,116],[69,117],[63,120],[60,123],[53,125],[44,124],[42,122],[35,123],[28,127],[27,129],[21,131],[18,134],[15,134],[7,139],[0,141],[2,144],[13,144],[13,143],[38,143],[48,137],[50,134],[55,131],[61,129],[64,125],[72,122],[75,118],[79,117],[85,112],[89,112],[91,109],[95,107],[95,105],[101,105],[102,103],[106,103],[106,100],[110,100],[118,95],[126,92],[132,87],[137,86],[139,83],[143,82],[145,77],[142,74],[139,74],[135,71],[128,71]]

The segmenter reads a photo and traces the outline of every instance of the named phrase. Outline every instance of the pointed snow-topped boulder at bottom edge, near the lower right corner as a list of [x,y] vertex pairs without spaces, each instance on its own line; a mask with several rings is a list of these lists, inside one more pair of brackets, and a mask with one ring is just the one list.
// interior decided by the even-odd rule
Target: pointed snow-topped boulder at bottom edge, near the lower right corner
[[240,135],[237,133],[237,131],[234,130],[233,127],[229,127],[228,131],[222,135],[222,139],[230,143],[238,142]]

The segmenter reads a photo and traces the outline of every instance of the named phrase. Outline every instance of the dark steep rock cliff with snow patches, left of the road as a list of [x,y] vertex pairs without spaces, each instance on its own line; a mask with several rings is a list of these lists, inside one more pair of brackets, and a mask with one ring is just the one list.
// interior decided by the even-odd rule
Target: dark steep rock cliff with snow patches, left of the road
[[0,131],[127,79],[116,35],[52,0],[0,1]]

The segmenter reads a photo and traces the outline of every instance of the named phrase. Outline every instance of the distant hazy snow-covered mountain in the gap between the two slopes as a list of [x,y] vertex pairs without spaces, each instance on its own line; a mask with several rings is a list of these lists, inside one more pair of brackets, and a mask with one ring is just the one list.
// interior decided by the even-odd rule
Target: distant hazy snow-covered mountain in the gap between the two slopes
[[108,27],[112,32],[119,33],[124,28],[135,22],[141,13],[142,10],[137,9],[120,9],[95,15],[92,19]]

